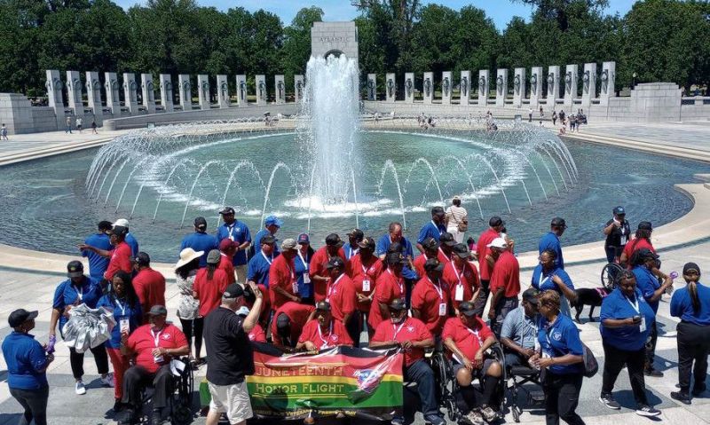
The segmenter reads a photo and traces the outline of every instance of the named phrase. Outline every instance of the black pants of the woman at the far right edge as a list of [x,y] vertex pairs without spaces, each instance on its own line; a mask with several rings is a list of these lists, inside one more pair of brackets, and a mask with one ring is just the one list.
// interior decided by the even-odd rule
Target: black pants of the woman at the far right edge
[[690,390],[691,368],[695,380],[693,388],[702,390],[707,374],[707,355],[710,353],[710,327],[681,322],[675,329],[678,331],[678,383],[681,390]]

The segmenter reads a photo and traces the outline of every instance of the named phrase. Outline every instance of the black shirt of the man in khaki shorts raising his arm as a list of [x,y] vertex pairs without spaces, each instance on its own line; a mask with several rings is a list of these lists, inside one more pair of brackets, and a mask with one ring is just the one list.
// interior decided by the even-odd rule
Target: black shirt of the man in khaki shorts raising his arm
[[254,374],[254,352],[244,319],[225,307],[217,307],[205,318],[207,380],[215,385],[232,385]]

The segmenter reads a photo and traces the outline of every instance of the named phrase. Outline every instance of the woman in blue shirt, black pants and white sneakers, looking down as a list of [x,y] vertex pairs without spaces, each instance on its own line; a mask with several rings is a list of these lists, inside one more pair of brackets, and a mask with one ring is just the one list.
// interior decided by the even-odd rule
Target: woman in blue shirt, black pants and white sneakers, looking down
[[646,340],[656,315],[636,287],[635,274],[619,272],[616,288],[604,297],[599,327],[604,345],[604,374],[599,400],[610,409],[621,405],[611,396],[621,369],[627,366],[628,380],[634,390],[636,413],[658,416],[660,412],[649,405],[646,384],[643,382],[643,364],[646,358]]

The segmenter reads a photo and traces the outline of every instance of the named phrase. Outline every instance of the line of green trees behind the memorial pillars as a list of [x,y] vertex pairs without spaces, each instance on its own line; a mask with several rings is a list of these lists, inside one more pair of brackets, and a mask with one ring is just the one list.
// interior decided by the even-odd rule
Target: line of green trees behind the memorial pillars
[[[710,2],[646,0],[624,16],[606,0],[514,0],[533,4],[499,31],[485,11],[419,0],[359,6],[359,66],[383,76],[615,60],[617,85],[710,83]],[[522,10],[522,8],[521,8]],[[0,0],[0,91],[43,96],[45,69],[177,74],[303,74],[311,27],[304,8],[288,25],[271,12],[219,11],[194,0],[148,0],[124,11],[110,0]],[[102,75],[103,78],[103,75]],[[230,82],[233,83],[233,78]],[[253,84],[253,80],[251,81]]]

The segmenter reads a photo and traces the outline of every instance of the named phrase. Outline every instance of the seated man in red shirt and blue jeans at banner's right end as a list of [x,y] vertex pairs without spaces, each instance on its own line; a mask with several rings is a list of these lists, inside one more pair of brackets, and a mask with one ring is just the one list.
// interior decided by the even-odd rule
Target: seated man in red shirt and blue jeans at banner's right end
[[[420,319],[406,315],[403,298],[395,298],[388,305],[388,316],[375,329],[370,348],[397,345],[404,352],[405,361],[402,375],[405,381],[416,382],[416,389],[422,401],[424,421],[433,425],[445,425],[446,421],[438,411],[434,372],[424,359],[424,350],[434,346],[434,338]],[[395,418],[392,423],[403,423],[403,418]]]

